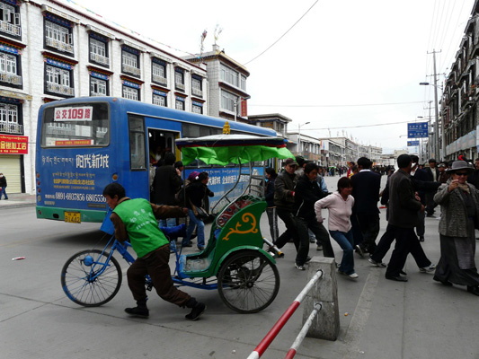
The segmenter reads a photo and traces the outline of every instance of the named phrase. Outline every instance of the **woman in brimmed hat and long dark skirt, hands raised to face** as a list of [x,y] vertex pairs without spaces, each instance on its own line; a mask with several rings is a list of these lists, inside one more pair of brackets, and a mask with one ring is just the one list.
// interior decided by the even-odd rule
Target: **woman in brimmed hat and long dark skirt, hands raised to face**
[[442,184],[434,201],[440,205],[440,259],[434,280],[443,285],[466,285],[479,295],[479,274],[475,266],[475,228],[479,224],[479,192],[467,183],[473,172],[466,161],[455,161],[451,177]]

